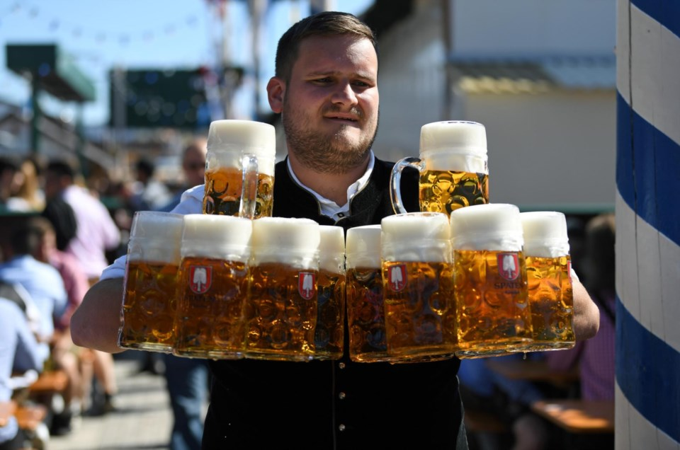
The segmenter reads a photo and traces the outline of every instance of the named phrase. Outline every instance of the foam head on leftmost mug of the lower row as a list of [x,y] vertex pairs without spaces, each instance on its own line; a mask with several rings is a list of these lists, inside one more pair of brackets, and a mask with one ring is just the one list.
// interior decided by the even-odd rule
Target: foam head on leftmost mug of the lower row
[[179,265],[183,216],[171,212],[135,212],[128,241],[128,260]]

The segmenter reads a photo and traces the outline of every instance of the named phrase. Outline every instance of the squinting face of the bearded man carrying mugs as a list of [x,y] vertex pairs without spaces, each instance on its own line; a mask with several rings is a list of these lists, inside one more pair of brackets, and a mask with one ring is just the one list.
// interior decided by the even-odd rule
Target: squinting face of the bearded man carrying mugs
[[378,55],[353,35],[308,37],[283,91],[288,151],[322,173],[366,160],[378,129]]

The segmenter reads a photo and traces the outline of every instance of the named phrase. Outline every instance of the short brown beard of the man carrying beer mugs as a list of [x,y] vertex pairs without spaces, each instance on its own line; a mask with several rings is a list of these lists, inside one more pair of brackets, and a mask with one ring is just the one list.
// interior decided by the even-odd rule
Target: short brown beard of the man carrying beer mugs
[[344,136],[345,125],[333,136],[327,137],[305,128],[305,117],[286,108],[285,104],[281,120],[285,139],[290,147],[288,151],[293,152],[305,167],[318,173],[346,173],[360,166],[366,161],[378,132],[376,119],[373,134],[367,132],[356,144],[351,144]]

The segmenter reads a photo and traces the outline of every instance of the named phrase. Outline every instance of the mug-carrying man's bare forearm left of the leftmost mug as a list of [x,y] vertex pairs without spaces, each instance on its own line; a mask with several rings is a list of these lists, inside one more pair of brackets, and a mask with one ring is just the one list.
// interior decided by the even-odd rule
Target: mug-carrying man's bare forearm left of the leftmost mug
[[71,318],[74,344],[108,353],[122,352],[124,349],[118,347],[122,301],[123,278],[94,284]]

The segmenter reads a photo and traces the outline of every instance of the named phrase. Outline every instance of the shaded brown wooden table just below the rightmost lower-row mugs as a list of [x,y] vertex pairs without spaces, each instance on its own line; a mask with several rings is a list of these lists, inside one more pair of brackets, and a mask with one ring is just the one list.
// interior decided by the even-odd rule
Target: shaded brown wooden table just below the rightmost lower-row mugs
[[487,367],[511,380],[542,381],[567,387],[579,381],[579,371],[553,371],[545,361],[488,358]]

